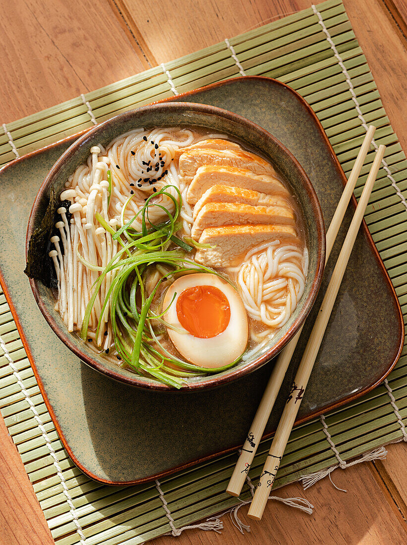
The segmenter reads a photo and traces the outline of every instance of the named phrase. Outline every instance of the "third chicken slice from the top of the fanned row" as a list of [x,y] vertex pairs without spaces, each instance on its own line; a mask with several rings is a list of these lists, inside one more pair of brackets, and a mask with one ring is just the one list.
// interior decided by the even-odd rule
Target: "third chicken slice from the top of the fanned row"
[[267,195],[289,195],[284,185],[272,174],[255,174],[246,168],[207,165],[197,169],[187,190],[187,201],[195,204],[213,185],[240,187]]

